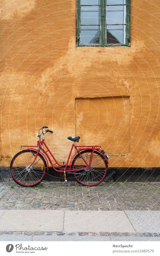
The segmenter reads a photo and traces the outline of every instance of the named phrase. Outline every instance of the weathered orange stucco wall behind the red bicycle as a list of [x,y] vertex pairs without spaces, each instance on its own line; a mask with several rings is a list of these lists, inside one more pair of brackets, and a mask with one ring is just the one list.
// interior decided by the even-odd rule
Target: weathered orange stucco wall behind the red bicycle
[[159,1],[131,2],[131,47],[76,48],[76,0],[1,1],[1,166],[42,125],[59,161],[80,134],[110,166],[160,166]]

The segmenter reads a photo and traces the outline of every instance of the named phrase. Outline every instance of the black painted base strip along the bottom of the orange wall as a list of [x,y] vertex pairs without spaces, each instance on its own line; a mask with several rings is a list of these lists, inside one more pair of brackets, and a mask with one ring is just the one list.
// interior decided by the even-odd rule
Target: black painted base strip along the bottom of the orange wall
[[[59,174],[49,168],[46,175],[48,181],[63,181]],[[73,181],[71,174],[67,177],[68,181]],[[153,168],[108,168],[106,182],[114,180],[115,182],[160,182],[160,167]],[[12,181],[10,169],[0,167],[0,182]]]

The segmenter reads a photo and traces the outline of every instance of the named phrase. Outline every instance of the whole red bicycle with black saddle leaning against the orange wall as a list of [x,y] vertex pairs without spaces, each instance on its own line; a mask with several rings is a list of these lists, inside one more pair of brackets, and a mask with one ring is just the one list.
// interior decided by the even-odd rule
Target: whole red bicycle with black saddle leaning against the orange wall
[[[39,137],[37,146],[21,146],[21,148],[27,147],[27,149],[18,152],[11,160],[11,174],[17,184],[24,187],[38,185],[45,178],[48,171],[48,160],[52,168],[63,175],[65,183],[67,182],[67,173],[71,173],[74,179],[81,185],[90,187],[100,184],[105,179],[109,156],[105,155],[105,151],[101,150],[101,146],[75,146],[74,143],[79,142],[80,137],[68,137],[68,140],[73,141],[71,150],[66,164],[65,162],[60,164],[44,141],[46,133],[53,133],[53,131],[49,129],[43,131],[44,128],[48,127],[43,126],[39,129],[39,133],[37,133],[37,137]],[[42,139],[41,136],[43,136]],[[47,150],[44,150],[44,146]],[[73,148],[75,148],[76,153],[69,163]],[[47,152],[53,157],[54,164]],[[56,164],[59,168],[55,167]]]

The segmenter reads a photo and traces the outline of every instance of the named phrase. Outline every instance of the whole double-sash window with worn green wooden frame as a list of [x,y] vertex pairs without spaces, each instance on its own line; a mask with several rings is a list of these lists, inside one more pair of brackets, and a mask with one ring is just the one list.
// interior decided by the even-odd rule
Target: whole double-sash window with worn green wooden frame
[[77,0],[77,46],[128,46],[131,0]]

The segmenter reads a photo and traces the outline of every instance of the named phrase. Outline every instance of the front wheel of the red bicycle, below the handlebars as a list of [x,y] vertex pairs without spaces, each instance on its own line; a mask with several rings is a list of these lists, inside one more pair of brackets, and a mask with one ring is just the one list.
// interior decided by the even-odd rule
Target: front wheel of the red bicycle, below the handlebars
[[36,153],[35,150],[22,150],[11,160],[10,169],[12,178],[20,186],[34,187],[38,185],[46,175],[47,163],[40,153],[35,163],[28,169]]

